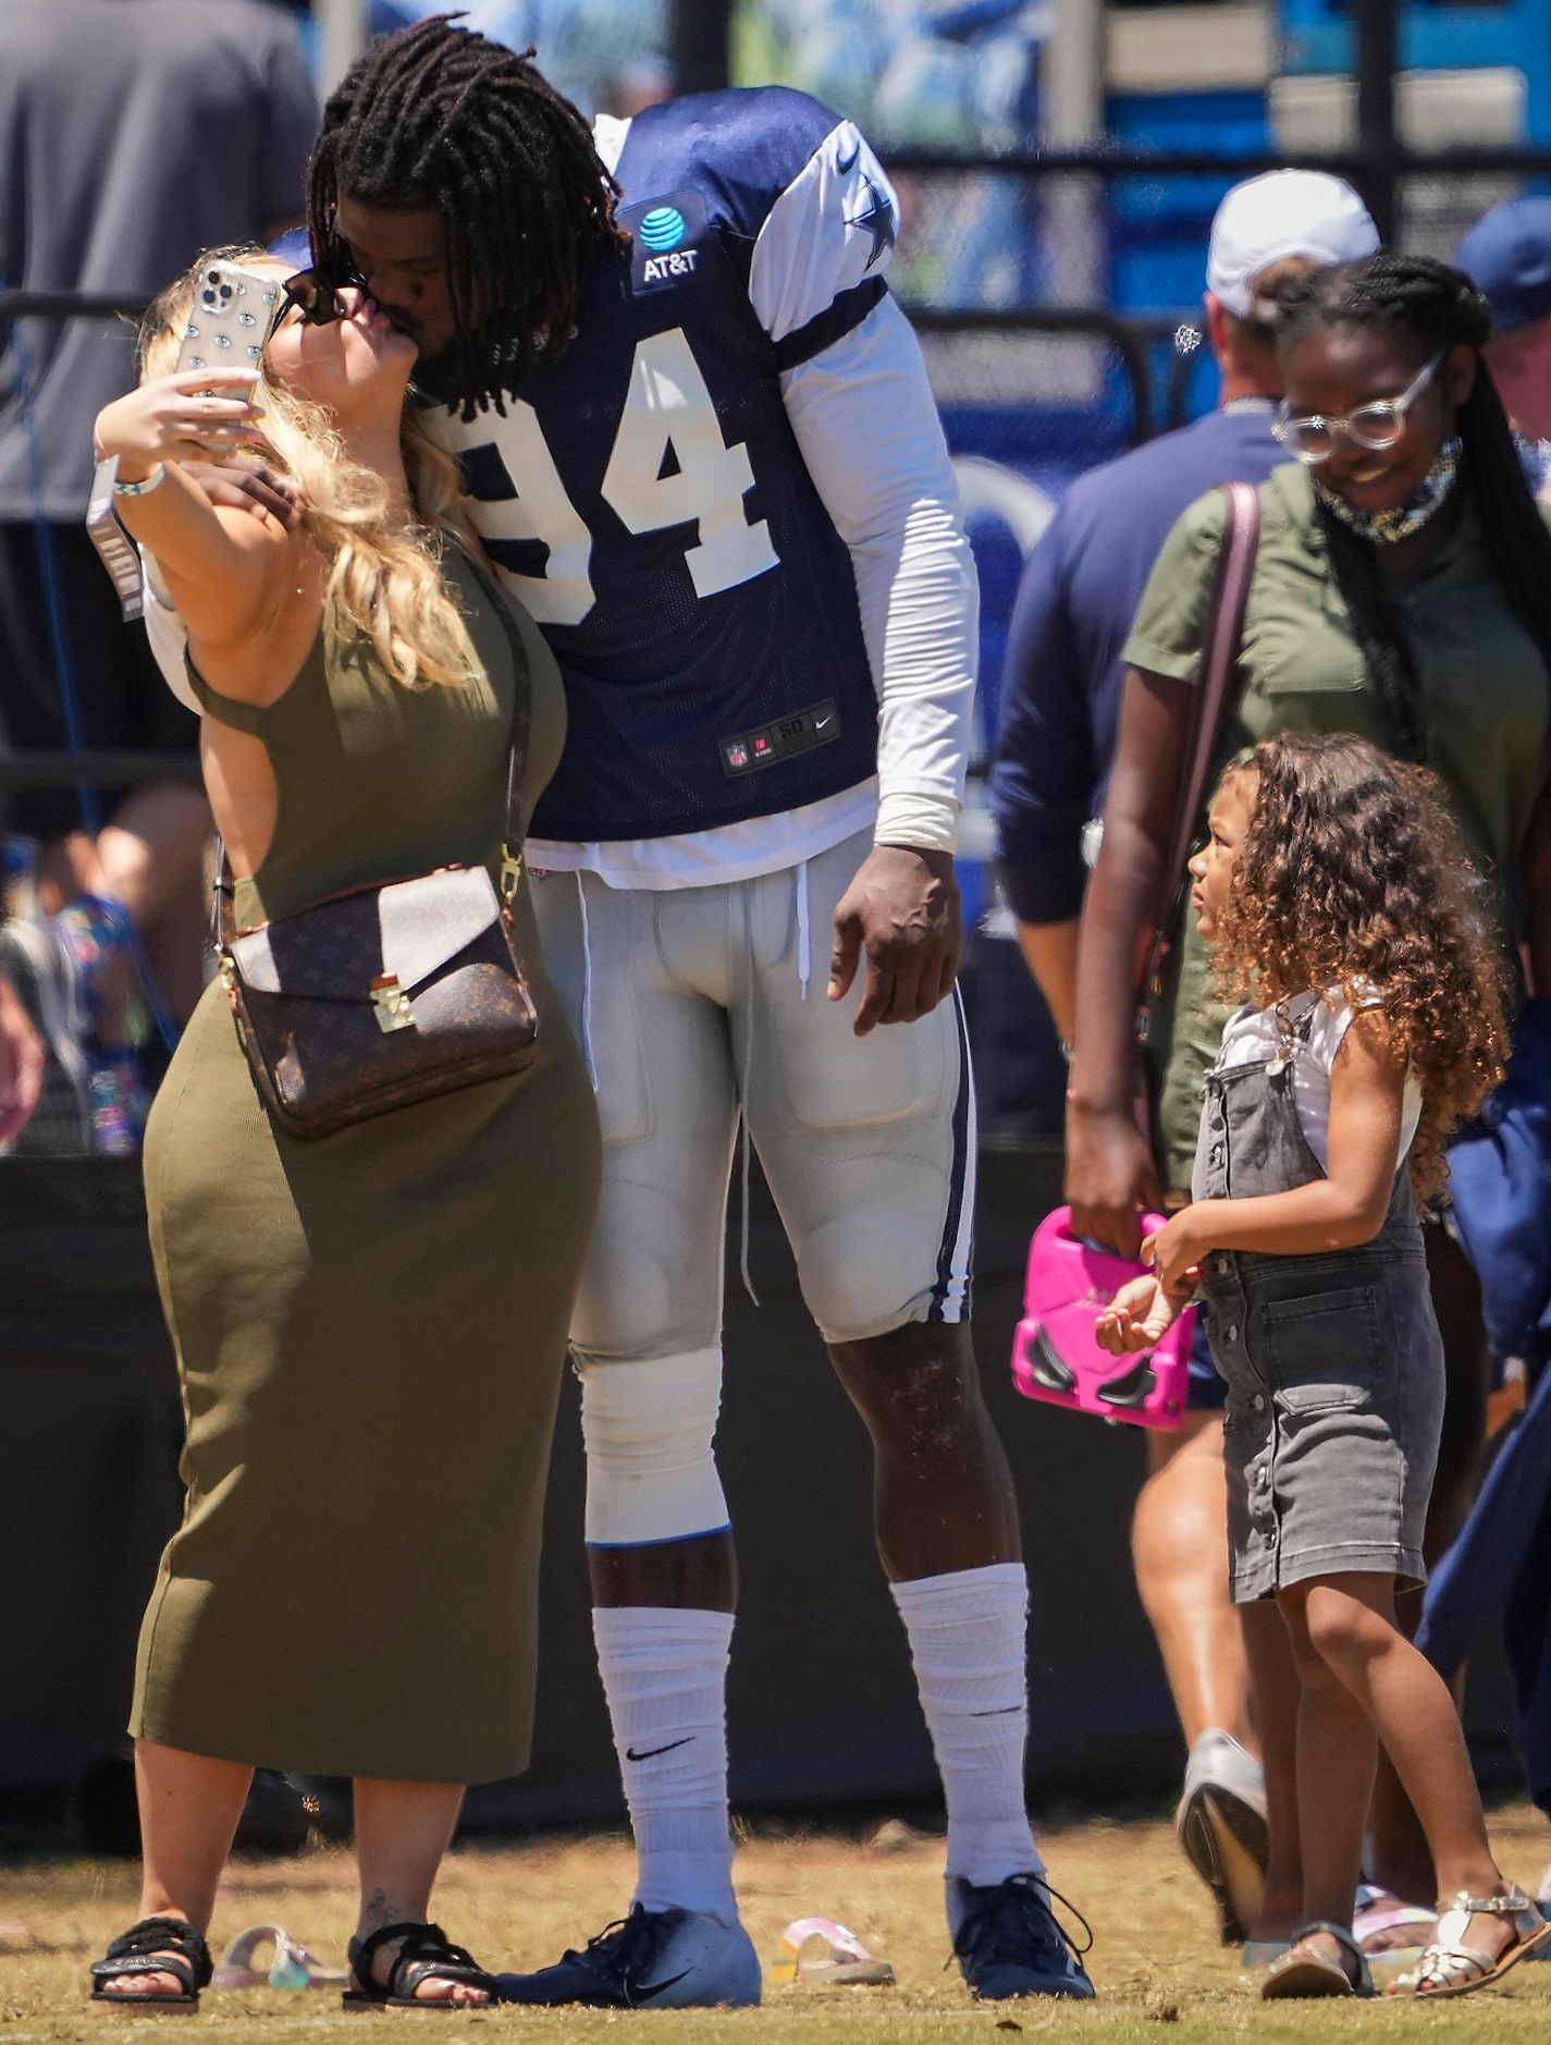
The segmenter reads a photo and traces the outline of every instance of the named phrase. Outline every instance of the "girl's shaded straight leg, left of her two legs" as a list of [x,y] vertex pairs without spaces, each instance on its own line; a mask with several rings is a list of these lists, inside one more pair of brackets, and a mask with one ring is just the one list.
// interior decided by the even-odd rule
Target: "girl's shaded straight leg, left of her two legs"
[[[1277,1595],[1298,1665],[1298,1840],[1304,1861],[1304,1922],[1351,1924],[1363,1861],[1363,1822],[1373,1796],[1377,1734],[1326,1661],[1310,1624],[1310,1585]],[[1351,1971],[1351,1955],[1328,1933],[1304,1945]]]

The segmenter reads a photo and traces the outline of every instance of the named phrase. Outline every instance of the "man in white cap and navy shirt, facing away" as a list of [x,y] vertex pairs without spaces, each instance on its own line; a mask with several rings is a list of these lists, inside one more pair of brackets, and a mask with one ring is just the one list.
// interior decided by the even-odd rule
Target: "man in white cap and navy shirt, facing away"
[[[1024,569],[991,806],[1024,957],[1065,1043],[1077,1022],[1077,928],[1097,832],[1089,820],[1103,808],[1114,765],[1120,654],[1142,585],[1187,505],[1220,483],[1261,483],[1283,460],[1271,438],[1281,395],[1277,290],[1316,264],[1375,247],[1371,219],[1338,178],[1279,170],[1234,186],[1208,256],[1220,409],[1081,476]],[[1212,1413],[1220,1403],[1222,1382],[1202,1354],[1191,1368],[1197,1411],[1177,1434],[1148,1436],[1153,1474],[1136,1503],[1132,1550],[1191,1748],[1179,1834],[1218,1898],[1224,1939],[1242,1939],[1259,1914],[1253,1861],[1265,1853],[1265,1787],[1228,1601],[1222,1423]],[[1244,1843],[1259,1853],[1247,1857]]]

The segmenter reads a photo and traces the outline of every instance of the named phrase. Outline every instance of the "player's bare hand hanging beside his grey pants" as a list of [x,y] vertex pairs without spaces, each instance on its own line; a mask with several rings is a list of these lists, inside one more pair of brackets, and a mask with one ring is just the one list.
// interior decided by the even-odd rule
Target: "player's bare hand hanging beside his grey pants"
[[830,1000],[844,1000],[866,953],[852,1029],[920,1022],[948,994],[965,949],[952,853],[875,845],[834,912]]

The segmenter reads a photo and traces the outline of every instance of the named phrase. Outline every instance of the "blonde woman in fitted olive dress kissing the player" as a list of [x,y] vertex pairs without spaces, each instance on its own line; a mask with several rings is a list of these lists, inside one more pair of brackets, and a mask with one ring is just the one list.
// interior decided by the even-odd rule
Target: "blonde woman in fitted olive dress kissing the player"
[[[241,372],[166,374],[192,303],[194,272],[153,309],[147,380],[96,436],[139,485],[119,509],[188,626],[237,922],[495,869],[517,691],[529,806],[564,703],[531,622],[464,550],[452,466],[405,413],[415,344],[354,290],[325,294],[333,323],[288,303],[251,407]],[[286,464],[300,524],[213,509],[180,468],[210,442]],[[157,1096],[145,1178],[188,1507],[131,1720],[143,1914],[92,1969],[98,2002],[198,2000],[253,1767],[356,1779],[347,2002],[495,1996],[425,1918],[464,1785],[527,1765],[544,1481],[599,1174],[525,879],[515,920],[539,1008],[517,1078],[298,1141],[215,982]]]

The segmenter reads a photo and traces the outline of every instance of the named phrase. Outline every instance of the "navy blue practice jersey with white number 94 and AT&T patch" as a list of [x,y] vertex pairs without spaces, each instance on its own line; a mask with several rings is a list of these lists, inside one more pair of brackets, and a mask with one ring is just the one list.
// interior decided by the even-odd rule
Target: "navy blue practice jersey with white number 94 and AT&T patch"
[[490,558],[570,712],[550,840],[656,838],[836,796],[877,765],[852,560],[781,374],[885,292],[895,198],[850,123],[785,88],[629,123],[629,262],[505,417],[452,415]]

